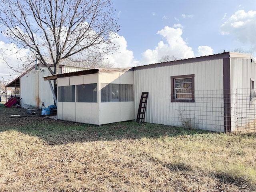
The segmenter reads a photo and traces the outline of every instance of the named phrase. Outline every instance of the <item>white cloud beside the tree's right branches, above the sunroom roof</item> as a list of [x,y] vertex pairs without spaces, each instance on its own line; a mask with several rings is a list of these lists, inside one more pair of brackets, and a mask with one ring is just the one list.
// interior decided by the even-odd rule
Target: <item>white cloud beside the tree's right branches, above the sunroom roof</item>
[[134,60],[133,52],[127,50],[127,42],[123,36],[116,34],[118,38],[112,40],[113,43],[119,44],[119,49],[112,55],[107,56],[107,61],[114,64],[114,67],[134,67],[138,62]]

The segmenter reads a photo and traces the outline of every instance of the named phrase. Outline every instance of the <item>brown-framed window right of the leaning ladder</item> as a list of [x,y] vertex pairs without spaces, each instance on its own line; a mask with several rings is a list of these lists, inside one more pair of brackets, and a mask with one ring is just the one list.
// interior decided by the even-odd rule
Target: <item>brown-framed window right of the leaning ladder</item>
[[171,76],[171,102],[194,102],[194,74]]

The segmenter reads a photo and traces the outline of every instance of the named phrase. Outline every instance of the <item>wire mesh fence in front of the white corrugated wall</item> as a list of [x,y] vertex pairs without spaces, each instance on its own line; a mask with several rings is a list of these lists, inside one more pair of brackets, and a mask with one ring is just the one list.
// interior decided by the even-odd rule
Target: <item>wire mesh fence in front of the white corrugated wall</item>
[[198,90],[194,102],[170,102],[172,126],[217,132],[256,132],[255,91]]

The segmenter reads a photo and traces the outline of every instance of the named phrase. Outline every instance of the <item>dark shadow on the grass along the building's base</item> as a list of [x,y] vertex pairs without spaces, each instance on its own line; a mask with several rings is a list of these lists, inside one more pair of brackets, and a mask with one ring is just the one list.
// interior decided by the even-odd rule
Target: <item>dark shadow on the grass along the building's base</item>
[[[22,108],[4,108],[2,106],[0,108],[0,132],[16,130],[23,134],[39,137],[50,145],[209,133],[204,130],[137,122],[118,122],[96,126],[54,120],[46,118],[46,116],[29,115]],[[20,114],[22,117],[11,117],[13,114]]]

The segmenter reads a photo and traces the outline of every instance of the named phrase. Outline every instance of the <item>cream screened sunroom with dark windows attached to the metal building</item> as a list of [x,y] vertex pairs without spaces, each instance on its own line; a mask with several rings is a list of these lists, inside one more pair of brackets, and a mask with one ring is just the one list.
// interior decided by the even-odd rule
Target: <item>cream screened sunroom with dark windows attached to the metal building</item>
[[133,70],[92,69],[45,77],[58,80],[58,119],[88,124],[134,120]]

